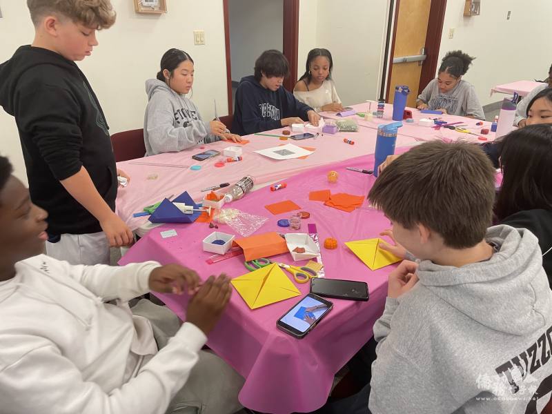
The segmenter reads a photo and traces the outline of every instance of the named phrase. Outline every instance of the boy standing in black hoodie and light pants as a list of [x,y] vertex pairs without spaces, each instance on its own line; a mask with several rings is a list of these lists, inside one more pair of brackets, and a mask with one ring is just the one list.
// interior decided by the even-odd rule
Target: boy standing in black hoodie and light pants
[[30,196],[48,210],[46,253],[71,264],[109,263],[132,242],[115,215],[117,174],[108,124],[75,61],[115,23],[110,0],[28,0],[35,36],[0,66],[0,105],[15,117]]

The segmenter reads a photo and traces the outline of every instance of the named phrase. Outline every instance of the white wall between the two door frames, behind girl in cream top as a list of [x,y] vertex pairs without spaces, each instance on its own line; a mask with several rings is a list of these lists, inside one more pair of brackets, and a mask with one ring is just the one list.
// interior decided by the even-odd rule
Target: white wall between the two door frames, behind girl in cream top
[[[388,0],[301,0],[299,76],[308,50],[326,48],[333,57],[333,79],[350,105],[376,99]],[[316,26],[316,35],[313,35]]]

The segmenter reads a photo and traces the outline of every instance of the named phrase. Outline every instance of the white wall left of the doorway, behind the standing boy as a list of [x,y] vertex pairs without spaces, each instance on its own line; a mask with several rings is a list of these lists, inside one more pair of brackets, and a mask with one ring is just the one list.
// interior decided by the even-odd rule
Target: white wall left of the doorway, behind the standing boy
[[[167,3],[167,14],[148,16],[135,13],[131,0],[112,0],[117,10],[115,26],[100,32],[92,57],[78,63],[98,95],[111,133],[143,126],[144,81],[155,77],[161,56],[172,47],[186,50],[195,61],[192,99],[202,117],[215,115],[213,99],[219,115],[228,113],[222,1]],[[25,5],[23,0],[0,0],[0,61],[9,59],[21,44],[32,42],[34,31]],[[205,30],[205,46],[194,46],[193,30]],[[3,110],[0,131],[0,152],[10,157],[16,175],[26,181],[15,121]]]

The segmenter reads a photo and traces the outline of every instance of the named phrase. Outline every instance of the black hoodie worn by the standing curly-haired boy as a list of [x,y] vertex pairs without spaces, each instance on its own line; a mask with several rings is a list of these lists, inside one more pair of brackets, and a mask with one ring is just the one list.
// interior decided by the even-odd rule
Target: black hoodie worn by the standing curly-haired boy
[[115,211],[117,168],[106,117],[75,62],[21,46],[0,65],[0,105],[15,117],[30,197],[48,211],[48,233],[101,231],[97,219],[59,182],[84,166]]

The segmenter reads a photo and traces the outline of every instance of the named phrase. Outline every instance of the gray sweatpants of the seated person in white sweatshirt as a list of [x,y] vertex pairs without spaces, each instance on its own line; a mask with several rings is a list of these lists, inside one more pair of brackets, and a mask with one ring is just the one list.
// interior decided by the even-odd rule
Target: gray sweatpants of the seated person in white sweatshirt
[[[180,327],[178,317],[165,306],[142,299],[132,313],[147,317],[159,348],[163,348]],[[166,414],[233,414],[242,408],[237,394],[244,385],[232,367],[210,351],[199,351],[199,361],[184,386],[172,399]]]

